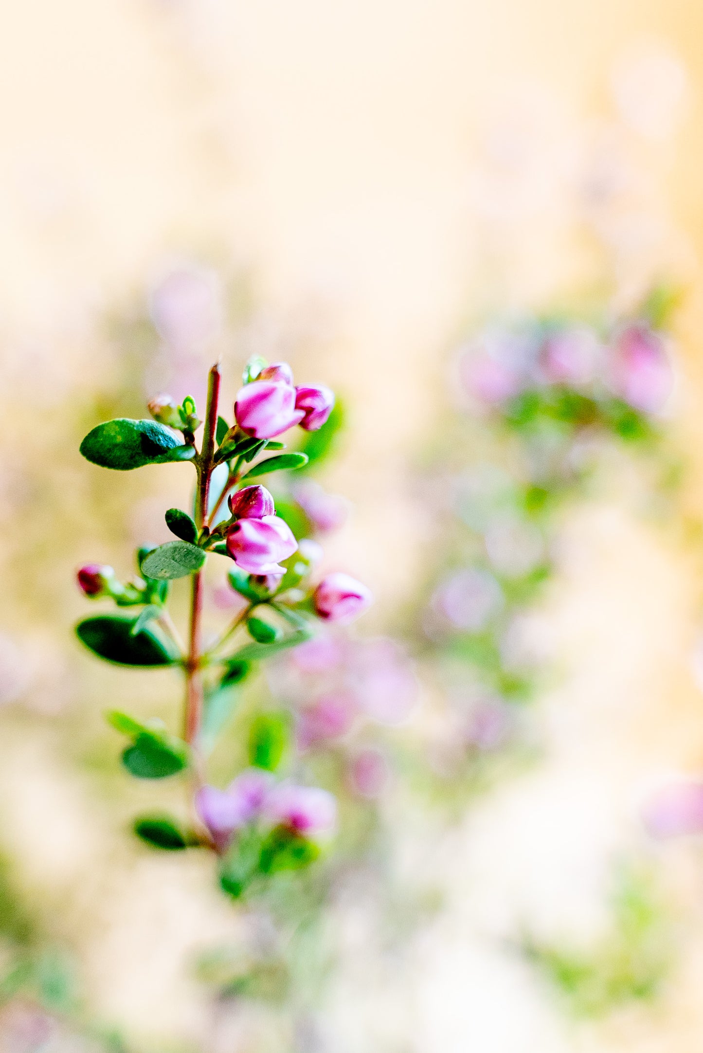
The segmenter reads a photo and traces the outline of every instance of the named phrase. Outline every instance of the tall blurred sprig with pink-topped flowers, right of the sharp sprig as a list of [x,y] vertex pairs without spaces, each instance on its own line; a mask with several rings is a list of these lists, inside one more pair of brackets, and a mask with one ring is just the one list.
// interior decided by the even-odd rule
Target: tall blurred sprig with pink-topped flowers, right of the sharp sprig
[[559,513],[608,443],[655,448],[674,384],[672,303],[658,291],[624,320],[489,325],[460,353],[470,420],[450,424],[441,450],[453,515],[438,523],[442,564],[422,623],[444,699],[429,736],[434,791],[485,786],[520,739],[520,703],[547,676],[531,612],[555,574]]

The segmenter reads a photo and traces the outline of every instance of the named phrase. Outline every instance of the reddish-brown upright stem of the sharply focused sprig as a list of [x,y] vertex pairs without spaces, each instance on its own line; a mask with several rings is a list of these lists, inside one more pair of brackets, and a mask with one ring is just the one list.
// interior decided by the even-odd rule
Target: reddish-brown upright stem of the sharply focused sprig
[[[207,376],[207,406],[202,450],[197,458],[198,493],[196,497],[196,526],[201,531],[207,516],[209,479],[213,474],[217,409],[220,397],[220,363],[216,362]],[[201,672],[201,622],[203,605],[202,571],[192,578],[190,632],[188,657],[185,663],[185,741],[193,744],[200,731],[203,710],[203,681]]]

